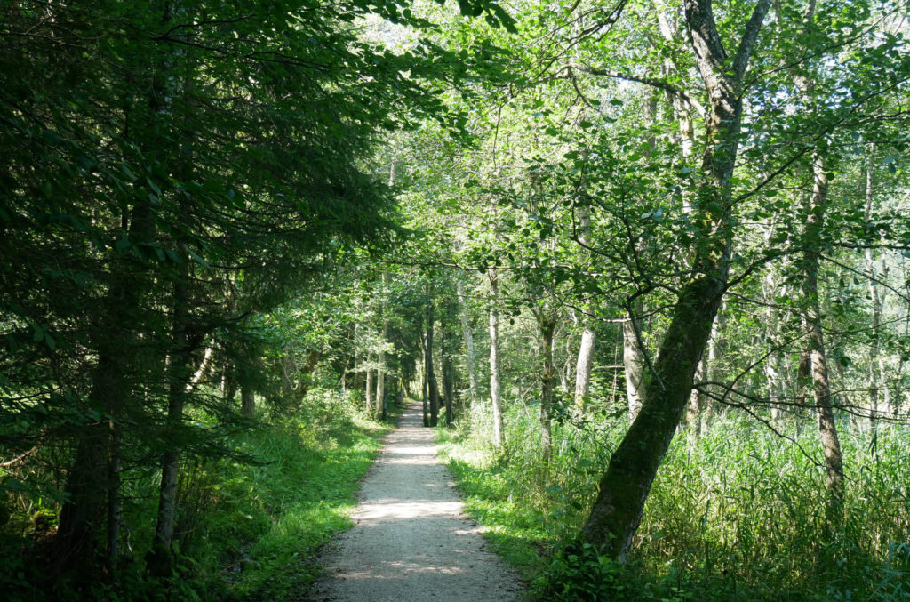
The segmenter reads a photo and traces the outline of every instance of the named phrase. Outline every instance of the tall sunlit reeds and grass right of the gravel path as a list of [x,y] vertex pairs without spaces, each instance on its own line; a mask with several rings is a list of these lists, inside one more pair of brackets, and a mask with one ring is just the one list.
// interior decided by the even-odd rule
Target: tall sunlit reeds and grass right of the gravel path
[[[624,430],[554,429],[548,465],[535,454],[536,406],[506,415],[497,452],[473,413],[440,431],[471,517],[541,599],[904,600],[910,597],[910,431],[864,432],[844,423],[844,523],[824,519],[824,474],[814,432],[790,440],[736,413],[716,416],[698,443],[672,444],[627,566],[572,538],[596,491],[594,474]],[[479,421],[479,422],[478,422]],[[477,428],[480,426],[480,428]]]

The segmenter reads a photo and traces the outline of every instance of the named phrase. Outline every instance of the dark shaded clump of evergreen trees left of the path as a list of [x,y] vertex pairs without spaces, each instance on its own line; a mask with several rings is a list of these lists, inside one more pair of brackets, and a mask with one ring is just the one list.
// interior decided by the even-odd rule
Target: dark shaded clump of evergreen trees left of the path
[[[14,159],[2,173],[3,244],[35,270],[3,270],[3,320],[10,341],[41,334],[5,349],[15,368],[5,382],[24,400],[11,415],[44,407],[36,432],[66,450],[61,568],[92,568],[106,545],[113,569],[123,473],[155,456],[157,543],[169,556],[180,459],[217,447],[186,420],[215,411],[192,383],[212,347],[389,231],[389,188],[365,159],[379,131],[436,106],[423,94],[436,69],[421,66],[422,50],[385,53],[344,26],[370,10],[4,9],[0,36],[16,50],[2,59],[0,135]],[[245,413],[254,380],[238,378]]]

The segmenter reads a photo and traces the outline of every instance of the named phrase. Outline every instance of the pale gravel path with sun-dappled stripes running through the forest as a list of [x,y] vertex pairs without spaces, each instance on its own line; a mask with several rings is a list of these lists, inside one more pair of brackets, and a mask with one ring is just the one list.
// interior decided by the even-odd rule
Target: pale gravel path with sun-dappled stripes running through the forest
[[352,518],[321,558],[310,599],[480,602],[519,600],[521,585],[462,515],[433,430],[411,403],[360,488]]

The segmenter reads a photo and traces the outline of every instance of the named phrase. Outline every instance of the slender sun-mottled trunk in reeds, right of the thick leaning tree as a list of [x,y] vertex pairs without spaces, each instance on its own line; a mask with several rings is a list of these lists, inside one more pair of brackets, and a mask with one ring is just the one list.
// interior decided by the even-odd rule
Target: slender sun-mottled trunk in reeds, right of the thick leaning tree
[[838,520],[844,504],[844,459],[834,422],[834,408],[831,404],[828,363],[824,353],[822,311],[818,296],[819,246],[824,228],[824,211],[827,206],[828,174],[824,157],[816,152],[813,158],[813,191],[806,208],[804,235],[804,279],[805,323],[809,328],[809,359],[818,413],[818,430],[824,450],[824,465],[828,486],[828,514]]

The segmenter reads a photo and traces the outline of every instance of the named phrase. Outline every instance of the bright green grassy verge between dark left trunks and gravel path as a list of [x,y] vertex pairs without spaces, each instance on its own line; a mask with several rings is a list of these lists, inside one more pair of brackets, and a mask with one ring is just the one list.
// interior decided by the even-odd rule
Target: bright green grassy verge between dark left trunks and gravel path
[[319,575],[319,547],[351,525],[360,479],[391,423],[320,391],[308,408],[238,441],[257,465],[223,463],[210,475],[216,485],[185,550],[203,597],[299,596]]

